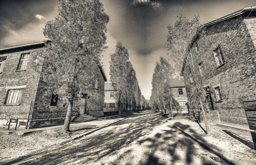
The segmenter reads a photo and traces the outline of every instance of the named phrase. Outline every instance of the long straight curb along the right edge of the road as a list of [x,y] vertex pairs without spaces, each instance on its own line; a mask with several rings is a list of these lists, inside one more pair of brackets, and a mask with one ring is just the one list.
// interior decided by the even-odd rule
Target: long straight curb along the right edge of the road
[[[159,116],[158,114],[156,114],[156,115]],[[164,119],[162,116],[159,116],[159,117]],[[206,142],[204,142],[201,139],[197,139],[195,136],[193,136],[192,134],[188,133],[186,130],[183,130],[182,128],[178,127],[177,125],[174,125],[174,124],[170,123],[168,120],[166,120],[166,119],[164,119],[164,120],[166,122],[168,122],[169,124],[171,124],[172,126],[174,126],[175,128],[177,128],[178,130],[180,130],[181,132],[183,132],[186,136],[189,136],[192,140],[198,142],[201,146],[206,148],[208,151],[210,151],[210,152],[214,153],[215,155],[219,156],[221,159],[223,159],[228,164],[235,165],[235,163],[233,163],[231,160],[225,158],[217,149],[215,149],[211,145],[208,145]]]

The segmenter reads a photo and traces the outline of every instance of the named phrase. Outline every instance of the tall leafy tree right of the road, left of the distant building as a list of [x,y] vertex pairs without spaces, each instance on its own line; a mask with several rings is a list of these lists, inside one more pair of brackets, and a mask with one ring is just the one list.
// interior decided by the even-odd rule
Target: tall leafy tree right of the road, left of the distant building
[[[156,67],[154,68],[153,78],[152,78],[152,91],[151,91],[151,101],[154,107],[163,112],[163,108],[166,100],[166,90],[165,85],[170,80],[173,74],[172,66],[169,62],[160,57],[160,62],[156,62]],[[169,94],[169,93],[168,93]],[[166,111],[165,111],[166,113]]]

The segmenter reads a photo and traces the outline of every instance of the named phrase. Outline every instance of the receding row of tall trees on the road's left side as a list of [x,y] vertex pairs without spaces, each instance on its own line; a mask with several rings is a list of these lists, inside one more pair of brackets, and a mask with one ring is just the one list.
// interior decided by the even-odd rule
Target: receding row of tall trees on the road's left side
[[119,115],[123,108],[126,112],[128,109],[131,112],[145,107],[146,101],[141,94],[136,72],[129,61],[128,50],[118,41],[115,53],[110,56],[110,81],[114,90],[116,90],[115,98]]

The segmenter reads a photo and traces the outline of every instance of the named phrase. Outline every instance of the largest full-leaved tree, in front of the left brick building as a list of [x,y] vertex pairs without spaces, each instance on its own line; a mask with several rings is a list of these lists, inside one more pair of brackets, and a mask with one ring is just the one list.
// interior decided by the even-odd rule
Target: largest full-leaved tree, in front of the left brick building
[[93,88],[106,48],[108,15],[99,0],[59,0],[58,16],[47,22],[46,49],[40,57],[42,78],[50,93],[58,93],[68,104],[64,130],[69,131],[73,102]]

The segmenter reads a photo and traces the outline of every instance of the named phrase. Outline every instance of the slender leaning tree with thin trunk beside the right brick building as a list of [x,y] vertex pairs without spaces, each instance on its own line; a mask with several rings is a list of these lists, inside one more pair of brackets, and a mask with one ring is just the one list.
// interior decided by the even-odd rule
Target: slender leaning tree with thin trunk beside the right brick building
[[[207,134],[209,134],[209,125],[204,111],[204,76],[201,76],[195,69],[195,64],[193,62],[195,59],[192,57],[192,41],[198,37],[204,37],[204,34],[205,29],[201,25],[198,15],[195,15],[192,20],[186,20],[186,17],[183,17],[183,15],[180,14],[177,16],[174,26],[168,26],[166,49],[169,50],[168,55],[170,59],[176,64],[175,69],[184,71],[183,75],[186,81],[186,86],[189,86],[188,88],[192,90],[191,93],[194,93],[194,95],[198,97],[203,112]],[[199,54],[199,52],[196,52],[194,57],[196,56],[197,58],[200,58],[201,56]],[[205,72],[205,75],[209,74],[209,72],[210,70]]]

